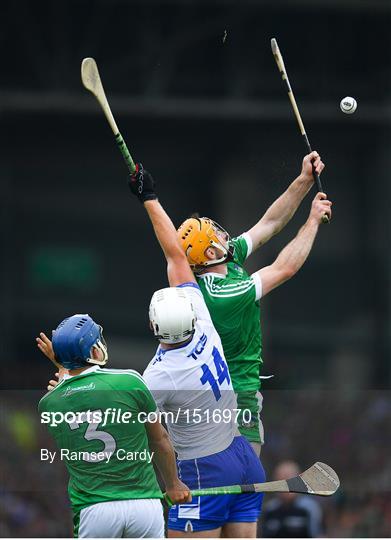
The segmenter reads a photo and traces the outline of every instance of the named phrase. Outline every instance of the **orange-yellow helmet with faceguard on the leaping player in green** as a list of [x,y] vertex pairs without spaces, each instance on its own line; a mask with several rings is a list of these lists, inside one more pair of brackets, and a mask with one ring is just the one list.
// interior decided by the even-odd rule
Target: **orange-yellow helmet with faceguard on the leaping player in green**
[[[229,240],[229,234],[213,220],[203,218],[188,218],[178,229],[178,237],[186,253],[191,268],[200,271],[207,266],[216,266],[225,262],[232,254],[228,247],[222,244],[218,233]],[[223,252],[219,259],[209,259],[205,252],[208,247],[216,247]]]

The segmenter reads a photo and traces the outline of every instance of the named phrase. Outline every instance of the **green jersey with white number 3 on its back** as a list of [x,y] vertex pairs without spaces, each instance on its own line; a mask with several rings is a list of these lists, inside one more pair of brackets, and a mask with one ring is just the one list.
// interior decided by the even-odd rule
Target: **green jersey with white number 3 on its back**
[[157,410],[133,370],[91,367],[63,379],[38,405],[69,472],[74,512],[121,499],[161,498],[145,419]]

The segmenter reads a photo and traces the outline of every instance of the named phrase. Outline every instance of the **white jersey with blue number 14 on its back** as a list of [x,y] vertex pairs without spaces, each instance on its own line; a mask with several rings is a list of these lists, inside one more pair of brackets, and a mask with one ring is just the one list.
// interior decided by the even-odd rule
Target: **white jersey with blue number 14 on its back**
[[143,374],[180,460],[222,452],[239,435],[220,337],[198,285],[182,286],[197,317],[193,339],[177,349],[159,347]]

